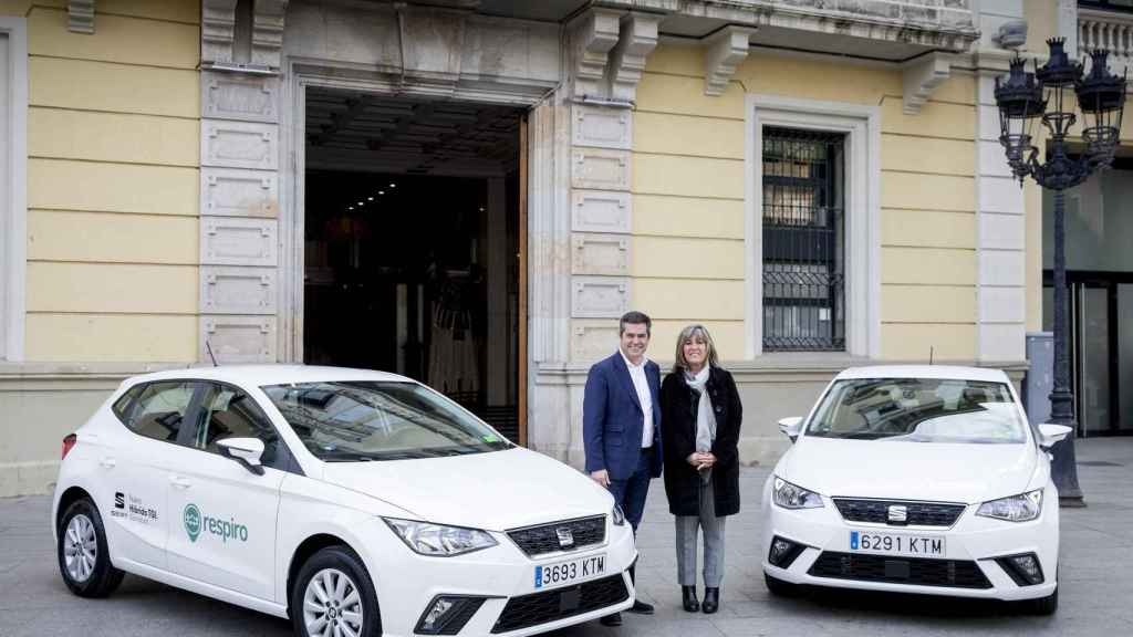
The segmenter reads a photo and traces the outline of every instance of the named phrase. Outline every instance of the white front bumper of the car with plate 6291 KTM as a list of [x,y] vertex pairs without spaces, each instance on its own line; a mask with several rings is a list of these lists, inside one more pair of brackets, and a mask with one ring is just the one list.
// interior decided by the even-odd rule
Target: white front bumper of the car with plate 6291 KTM
[[[1058,571],[1058,495],[1054,487],[1043,494],[1042,513],[1029,523],[1008,523],[977,517],[978,507],[970,506],[949,528],[895,527],[866,523],[846,521],[838,513],[829,498],[824,496],[824,507],[818,509],[789,510],[769,501],[769,485],[765,489],[763,536],[764,572],[791,584],[857,588],[891,593],[917,593],[926,595],[948,595],[1003,601],[1032,600],[1046,597],[1057,587]],[[869,568],[878,568],[885,560],[875,559],[869,552],[852,551],[850,533],[886,533],[943,537],[944,554],[931,559],[910,559],[904,555],[887,555],[885,560],[904,561],[911,564],[912,574],[935,572],[937,577],[923,577],[931,585],[912,584],[900,576],[880,581],[867,575]],[[782,537],[803,546],[786,568],[770,563],[768,555],[775,537]],[[1045,580],[1041,584],[1020,586],[1005,570],[997,558],[1033,553],[1040,563]],[[846,555],[864,555],[852,568],[838,572],[832,564],[840,563]],[[921,561],[923,560],[923,561]],[[900,568],[906,568],[901,566]],[[876,572],[876,571],[875,571]],[[985,580],[986,578],[986,580]],[[949,585],[948,583],[952,583]]]

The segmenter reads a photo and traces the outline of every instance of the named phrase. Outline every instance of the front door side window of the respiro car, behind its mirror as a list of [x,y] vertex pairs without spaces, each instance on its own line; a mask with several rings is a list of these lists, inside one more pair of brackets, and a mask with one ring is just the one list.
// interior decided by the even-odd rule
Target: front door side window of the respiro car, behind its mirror
[[259,461],[265,467],[281,469],[286,453],[283,442],[256,400],[247,392],[231,385],[208,383],[197,414],[197,428],[193,447],[221,453],[218,442],[225,438],[255,438],[264,443]]

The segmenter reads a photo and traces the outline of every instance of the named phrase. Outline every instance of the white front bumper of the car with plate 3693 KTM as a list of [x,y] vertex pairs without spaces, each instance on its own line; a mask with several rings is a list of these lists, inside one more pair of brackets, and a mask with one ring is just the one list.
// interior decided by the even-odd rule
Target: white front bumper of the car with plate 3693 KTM
[[[400,540],[389,533],[385,525],[372,530],[375,542],[364,559],[367,562],[375,587],[378,606],[382,614],[383,635],[392,637],[410,637],[418,635],[415,629],[431,602],[437,596],[483,597],[484,602],[457,635],[502,635],[518,637],[555,630],[628,609],[633,604],[633,585],[627,572],[637,559],[637,547],[633,544],[633,533],[629,525],[614,526],[607,521],[606,542],[600,545],[587,546],[577,551],[528,558],[505,534],[493,533],[500,543],[497,546],[458,555],[454,558],[427,558],[410,551]],[[392,540],[392,542],[391,542]],[[604,574],[586,579],[582,586],[591,584],[582,592],[582,606],[586,608],[587,595],[593,593],[598,580],[621,578],[627,593],[621,602],[600,605],[594,610],[571,610],[569,604],[577,601],[578,595],[571,595],[570,602],[560,608],[559,592],[576,589],[576,583],[566,586],[535,588],[535,567],[557,563],[566,560],[582,559],[593,555],[605,555]],[[536,597],[536,595],[542,596]],[[551,600],[551,597],[554,597]],[[516,629],[497,628],[509,601],[516,601],[509,615],[514,619],[517,612],[527,613],[530,621],[538,623]],[[548,609],[548,603],[553,608]],[[523,604],[517,610],[517,605]],[[533,610],[534,609],[534,610]],[[557,612],[561,611],[561,612]],[[542,614],[540,614],[542,613]],[[543,621],[546,619],[546,621]],[[521,622],[529,623],[529,622]],[[511,622],[510,626],[514,626]],[[493,632],[493,630],[500,630]]]

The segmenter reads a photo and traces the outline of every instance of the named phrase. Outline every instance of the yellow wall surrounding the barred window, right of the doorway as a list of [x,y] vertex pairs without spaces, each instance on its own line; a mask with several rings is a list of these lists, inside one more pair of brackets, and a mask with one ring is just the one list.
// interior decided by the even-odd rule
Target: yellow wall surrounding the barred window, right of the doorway
[[974,360],[973,77],[953,74],[908,116],[895,69],[753,49],[712,97],[702,68],[700,48],[662,44],[637,93],[632,303],[656,320],[654,356],[671,359],[676,332],[702,321],[725,358],[743,358],[744,94],[756,93],[880,105],[881,358],[928,359],[931,346]]

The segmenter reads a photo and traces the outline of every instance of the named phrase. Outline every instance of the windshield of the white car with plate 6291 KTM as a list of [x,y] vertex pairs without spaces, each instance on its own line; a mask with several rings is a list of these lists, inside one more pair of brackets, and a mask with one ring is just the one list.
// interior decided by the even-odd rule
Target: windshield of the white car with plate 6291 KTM
[[902,442],[1021,443],[1025,423],[1004,383],[855,379],[827,392],[807,435]]

